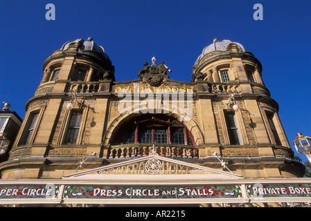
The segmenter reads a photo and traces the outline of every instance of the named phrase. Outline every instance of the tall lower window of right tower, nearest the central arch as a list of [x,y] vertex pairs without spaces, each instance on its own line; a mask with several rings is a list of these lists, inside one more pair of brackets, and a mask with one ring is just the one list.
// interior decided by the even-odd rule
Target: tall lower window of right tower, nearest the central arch
[[236,115],[232,112],[228,112],[225,114],[225,118],[230,144],[240,145],[241,140],[240,140],[240,133],[238,131],[238,124],[236,122]]

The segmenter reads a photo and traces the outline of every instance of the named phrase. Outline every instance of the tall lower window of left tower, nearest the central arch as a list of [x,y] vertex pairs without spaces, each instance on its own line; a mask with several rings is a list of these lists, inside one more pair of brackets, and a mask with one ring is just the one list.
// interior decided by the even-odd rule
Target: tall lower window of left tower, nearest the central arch
[[80,129],[82,113],[73,112],[71,114],[71,119],[67,129],[66,138],[64,139],[64,144],[76,144],[78,139],[78,133]]

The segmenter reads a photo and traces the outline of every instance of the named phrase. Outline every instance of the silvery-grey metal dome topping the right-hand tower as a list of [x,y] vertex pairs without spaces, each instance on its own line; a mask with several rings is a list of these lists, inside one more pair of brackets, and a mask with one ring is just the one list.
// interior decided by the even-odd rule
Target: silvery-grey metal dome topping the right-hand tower
[[199,64],[199,60],[202,59],[204,55],[207,55],[209,52],[213,51],[226,51],[226,48],[229,46],[229,44],[236,44],[238,46],[239,52],[245,52],[245,48],[242,46],[242,44],[238,42],[232,42],[230,40],[222,40],[214,39],[213,44],[210,44],[209,46],[206,46],[202,54],[197,57],[197,61],[195,61],[195,65]]

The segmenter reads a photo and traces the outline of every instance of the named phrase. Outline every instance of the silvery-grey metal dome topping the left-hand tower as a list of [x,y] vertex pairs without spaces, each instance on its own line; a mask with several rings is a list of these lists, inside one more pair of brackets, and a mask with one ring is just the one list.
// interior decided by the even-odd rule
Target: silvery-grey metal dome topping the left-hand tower
[[100,55],[103,55],[106,59],[110,60],[105,53],[105,49],[102,46],[94,43],[92,37],[89,37],[87,40],[76,39],[75,41],[67,41],[65,44],[63,44],[60,50],[67,50],[69,45],[73,43],[78,44],[80,46],[80,50],[93,50],[100,53]]

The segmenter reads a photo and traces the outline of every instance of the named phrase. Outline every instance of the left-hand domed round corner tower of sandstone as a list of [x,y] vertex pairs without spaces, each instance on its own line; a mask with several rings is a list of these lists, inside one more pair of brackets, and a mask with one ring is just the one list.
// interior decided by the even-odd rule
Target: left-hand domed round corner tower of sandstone
[[[79,157],[100,155],[104,123],[94,123],[95,108],[105,118],[107,96],[94,97],[94,93],[105,93],[112,81],[112,61],[91,37],[68,41],[55,50],[44,61],[35,96],[26,103],[24,122],[10,151],[10,163],[2,165],[2,177],[62,177],[63,172],[57,172],[64,163],[60,159],[66,159],[64,170],[72,171]],[[56,167],[44,171],[47,164]]]

